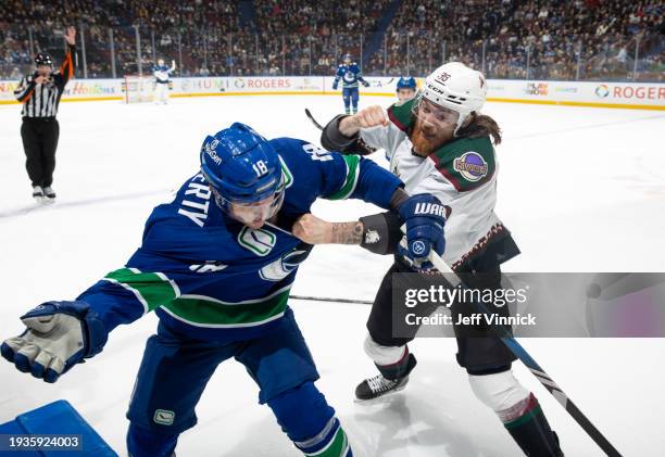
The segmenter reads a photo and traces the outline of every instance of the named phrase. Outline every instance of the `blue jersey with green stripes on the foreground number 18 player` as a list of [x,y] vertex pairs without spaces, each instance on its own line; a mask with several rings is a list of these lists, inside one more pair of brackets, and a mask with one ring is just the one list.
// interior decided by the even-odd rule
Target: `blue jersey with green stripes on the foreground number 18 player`
[[170,328],[198,339],[255,338],[284,318],[299,265],[312,245],[291,234],[317,198],[363,199],[388,208],[401,181],[374,162],[302,140],[269,140],[279,155],[284,204],[251,229],[215,203],[204,177],[188,179],[156,206],[142,244],[124,268],[84,292],[111,331],[155,310]]

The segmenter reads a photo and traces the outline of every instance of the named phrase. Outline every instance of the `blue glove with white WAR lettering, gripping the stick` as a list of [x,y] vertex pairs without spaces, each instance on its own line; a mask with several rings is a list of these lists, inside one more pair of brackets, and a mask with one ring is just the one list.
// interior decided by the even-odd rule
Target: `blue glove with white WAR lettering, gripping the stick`
[[399,246],[400,255],[415,269],[431,269],[434,266],[428,262],[430,251],[442,255],[446,250],[446,206],[436,196],[419,193],[410,196],[398,212],[406,225],[406,237]]

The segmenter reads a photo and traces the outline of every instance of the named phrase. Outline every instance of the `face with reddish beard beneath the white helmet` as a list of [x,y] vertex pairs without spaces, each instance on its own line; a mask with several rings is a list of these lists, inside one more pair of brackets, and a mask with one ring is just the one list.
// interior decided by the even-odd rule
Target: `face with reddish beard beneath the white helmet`
[[410,139],[417,155],[426,157],[452,140],[460,113],[421,99],[414,114],[416,122]]

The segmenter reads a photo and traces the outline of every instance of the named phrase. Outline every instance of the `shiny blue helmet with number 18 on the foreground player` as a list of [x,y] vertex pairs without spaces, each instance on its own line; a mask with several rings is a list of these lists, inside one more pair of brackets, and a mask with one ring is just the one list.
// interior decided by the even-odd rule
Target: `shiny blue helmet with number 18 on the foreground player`
[[279,156],[273,145],[250,126],[235,123],[208,136],[201,147],[201,173],[217,205],[230,212],[231,203],[249,204],[284,196]]

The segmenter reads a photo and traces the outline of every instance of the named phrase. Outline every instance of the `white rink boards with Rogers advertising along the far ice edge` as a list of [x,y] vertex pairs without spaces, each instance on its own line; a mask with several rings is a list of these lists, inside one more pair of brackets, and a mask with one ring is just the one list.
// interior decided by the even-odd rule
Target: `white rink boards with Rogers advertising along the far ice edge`
[[[367,76],[362,96],[394,97],[399,77]],[[63,101],[125,100],[125,79],[74,79]],[[172,97],[339,96],[327,76],[231,76],[173,78]],[[18,81],[0,80],[0,104],[16,104]],[[418,86],[422,79],[418,79]],[[488,79],[493,102],[665,110],[665,84]]]

